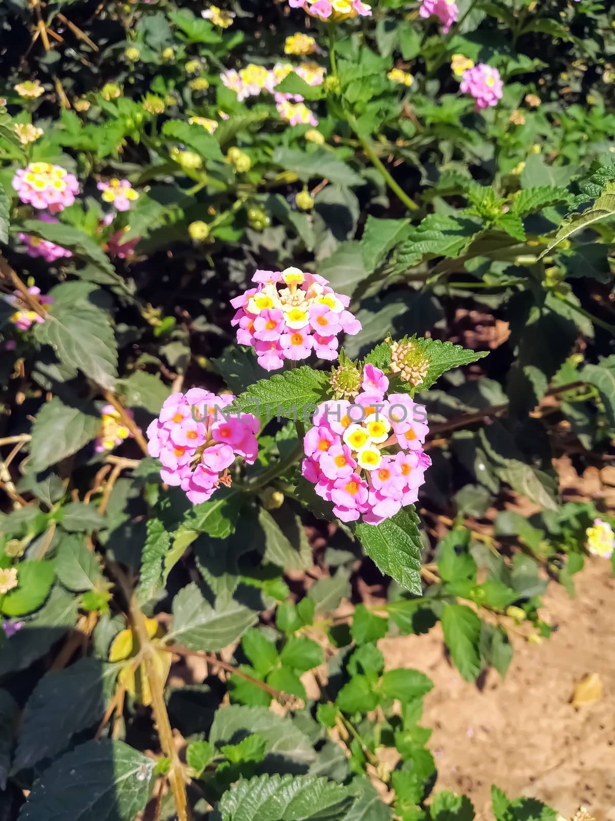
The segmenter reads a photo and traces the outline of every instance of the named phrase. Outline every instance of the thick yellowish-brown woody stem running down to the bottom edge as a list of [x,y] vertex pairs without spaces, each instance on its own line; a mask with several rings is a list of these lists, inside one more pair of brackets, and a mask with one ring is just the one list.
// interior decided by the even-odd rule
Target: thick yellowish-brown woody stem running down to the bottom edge
[[144,614],[141,612],[139,603],[134,595],[130,599],[130,618],[133,622],[134,630],[139,637],[140,651],[143,654],[149,689],[152,691],[152,709],[154,718],[156,719],[162,752],[168,759],[171,759],[168,778],[175,800],[177,818],[178,821],[192,821],[192,814],[188,805],[188,796],[186,796],[184,768],[175,748],[171,722],[169,721],[169,714],[166,712],[164,681],[162,681],[162,677],[156,665],[156,649],[149,639]]

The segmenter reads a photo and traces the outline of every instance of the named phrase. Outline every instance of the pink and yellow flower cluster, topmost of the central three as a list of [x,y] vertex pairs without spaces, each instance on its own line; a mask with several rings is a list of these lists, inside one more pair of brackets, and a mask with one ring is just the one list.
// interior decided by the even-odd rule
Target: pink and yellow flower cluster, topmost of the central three
[[[253,346],[258,364],[276,370],[284,360],[303,360],[314,351],[325,360],[338,356],[339,334],[361,330],[346,310],[350,298],[337,294],[328,280],[299,268],[257,271],[249,288],[230,304],[239,345]],[[280,287],[281,286],[281,287]]]

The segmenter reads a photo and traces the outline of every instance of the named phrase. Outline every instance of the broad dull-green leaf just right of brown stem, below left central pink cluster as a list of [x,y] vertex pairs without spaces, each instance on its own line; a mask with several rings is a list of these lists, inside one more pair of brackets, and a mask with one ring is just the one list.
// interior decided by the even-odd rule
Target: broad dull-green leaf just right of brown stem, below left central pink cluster
[[173,599],[173,626],[166,640],[216,653],[237,641],[256,621],[257,613],[235,599],[212,608],[192,582]]

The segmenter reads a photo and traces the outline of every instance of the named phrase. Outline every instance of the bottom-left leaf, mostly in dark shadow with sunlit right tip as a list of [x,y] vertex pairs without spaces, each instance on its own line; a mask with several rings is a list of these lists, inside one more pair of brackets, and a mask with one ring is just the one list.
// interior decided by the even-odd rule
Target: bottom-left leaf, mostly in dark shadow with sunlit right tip
[[123,741],[86,741],[45,769],[19,821],[134,821],[150,794],[154,760]]

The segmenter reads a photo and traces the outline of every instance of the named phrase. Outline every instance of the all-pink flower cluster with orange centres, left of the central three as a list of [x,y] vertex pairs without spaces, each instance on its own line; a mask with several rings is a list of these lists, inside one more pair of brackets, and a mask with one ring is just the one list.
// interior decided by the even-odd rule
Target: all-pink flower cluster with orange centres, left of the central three
[[248,465],[256,461],[260,422],[225,410],[234,399],[203,388],[171,393],[148,427],[148,451],[162,462],[162,480],[179,486],[195,504],[207,502],[220,484],[230,485],[235,456]]

